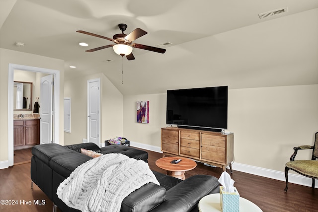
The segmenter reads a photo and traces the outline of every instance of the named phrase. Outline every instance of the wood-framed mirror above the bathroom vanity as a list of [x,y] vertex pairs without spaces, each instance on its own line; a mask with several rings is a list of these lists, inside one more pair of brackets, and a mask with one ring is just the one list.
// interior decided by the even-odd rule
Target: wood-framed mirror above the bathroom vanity
[[32,82],[13,82],[13,109],[32,110]]

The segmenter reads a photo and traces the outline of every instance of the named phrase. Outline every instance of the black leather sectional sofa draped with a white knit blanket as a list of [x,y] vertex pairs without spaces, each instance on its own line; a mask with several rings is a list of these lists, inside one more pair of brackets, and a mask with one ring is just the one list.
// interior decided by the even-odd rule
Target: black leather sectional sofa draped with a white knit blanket
[[[31,179],[62,212],[79,212],[65,205],[56,194],[64,179],[80,164],[92,159],[81,154],[80,148],[107,153],[122,153],[147,162],[148,152],[123,145],[99,148],[94,143],[62,146],[56,143],[32,148]],[[198,202],[208,194],[219,193],[218,179],[195,175],[184,181],[153,171],[160,186],[149,183],[127,196],[121,212],[197,212]]]

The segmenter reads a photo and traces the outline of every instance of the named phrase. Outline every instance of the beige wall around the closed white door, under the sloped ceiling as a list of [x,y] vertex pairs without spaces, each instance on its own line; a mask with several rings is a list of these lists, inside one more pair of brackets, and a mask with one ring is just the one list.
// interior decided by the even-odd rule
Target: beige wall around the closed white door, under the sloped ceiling
[[123,135],[123,95],[102,73],[65,81],[65,97],[71,98],[71,133],[64,132],[65,144],[87,139],[87,80],[100,79],[100,141]]

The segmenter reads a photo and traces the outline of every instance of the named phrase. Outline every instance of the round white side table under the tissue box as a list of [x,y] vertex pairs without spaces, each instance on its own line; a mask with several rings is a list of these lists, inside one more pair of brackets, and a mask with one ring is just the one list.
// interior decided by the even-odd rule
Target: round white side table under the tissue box
[[[220,194],[210,194],[199,202],[199,212],[222,212],[220,206]],[[254,203],[239,197],[239,212],[262,212]]]

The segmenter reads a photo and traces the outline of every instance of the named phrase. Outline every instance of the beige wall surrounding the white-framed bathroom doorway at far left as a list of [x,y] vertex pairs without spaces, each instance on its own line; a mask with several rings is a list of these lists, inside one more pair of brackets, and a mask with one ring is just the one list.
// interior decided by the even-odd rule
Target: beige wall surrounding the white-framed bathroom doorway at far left
[[[45,68],[60,71],[60,138],[64,142],[63,135],[63,111],[64,111],[64,61],[47,58],[23,52],[17,52],[0,48],[0,111],[3,113],[0,122],[0,163],[8,160],[8,64],[17,64],[30,67]],[[13,118],[13,117],[12,117]],[[13,128],[13,126],[12,126]]]

